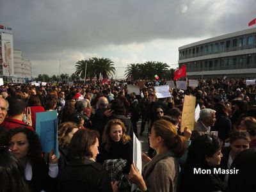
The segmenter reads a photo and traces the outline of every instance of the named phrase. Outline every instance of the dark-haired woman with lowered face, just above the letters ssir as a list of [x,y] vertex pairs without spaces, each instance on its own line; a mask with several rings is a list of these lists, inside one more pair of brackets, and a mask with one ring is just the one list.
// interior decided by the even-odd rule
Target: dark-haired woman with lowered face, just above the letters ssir
[[[240,132],[236,130],[230,131],[229,140],[230,146],[224,147],[222,150],[223,158],[221,158],[220,167],[223,170],[230,170],[235,157],[243,150],[249,148],[249,143],[251,141],[248,132]],[[225,184],[228,184],[228,174],[220,174],[219,176]]]

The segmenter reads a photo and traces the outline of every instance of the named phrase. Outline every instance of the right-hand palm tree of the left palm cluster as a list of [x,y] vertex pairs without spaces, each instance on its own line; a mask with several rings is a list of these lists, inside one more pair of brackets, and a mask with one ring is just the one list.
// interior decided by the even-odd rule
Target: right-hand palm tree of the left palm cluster
[[99,79],[100,76],[102,76],[103,79],[105,79],[115,74],[116,69],[113,64],[114,62],[109,60],[109,58],[92,58],[92,59],[95,65],[95,73],[96,73],[97,79]]

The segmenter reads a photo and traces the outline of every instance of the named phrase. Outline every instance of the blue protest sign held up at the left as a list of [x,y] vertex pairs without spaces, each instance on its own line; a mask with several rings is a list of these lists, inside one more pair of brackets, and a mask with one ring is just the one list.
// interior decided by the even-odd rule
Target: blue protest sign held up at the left
[[40,138],[42,152],[49,153],[54,149],[54,153],[58,157],[58,119],[56,110],[36,113],[36,134]]

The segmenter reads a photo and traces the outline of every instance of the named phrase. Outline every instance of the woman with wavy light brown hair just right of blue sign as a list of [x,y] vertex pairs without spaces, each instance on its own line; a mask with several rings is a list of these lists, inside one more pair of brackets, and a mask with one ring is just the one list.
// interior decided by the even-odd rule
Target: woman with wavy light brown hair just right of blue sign
[[58,161],[59,168],[63,168],[68,163],[68,145],[75,134],[78,131],[77,125],[74,122],[65,122],[60,124],[58,129],[58,143],[60,159]]

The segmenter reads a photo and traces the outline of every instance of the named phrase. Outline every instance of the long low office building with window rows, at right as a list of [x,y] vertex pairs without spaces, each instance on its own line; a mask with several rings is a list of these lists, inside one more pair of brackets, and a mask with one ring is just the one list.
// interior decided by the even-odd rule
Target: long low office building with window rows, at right
[[187,76],[256,77],[256,28],[179,47],[179,67]]

